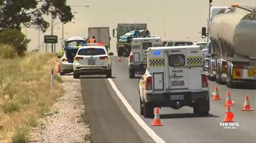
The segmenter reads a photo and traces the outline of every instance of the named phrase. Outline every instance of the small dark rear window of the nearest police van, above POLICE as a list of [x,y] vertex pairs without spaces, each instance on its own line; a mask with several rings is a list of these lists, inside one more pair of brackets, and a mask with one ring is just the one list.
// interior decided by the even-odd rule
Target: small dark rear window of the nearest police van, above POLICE
[[169,65],[171,67],[178,67],[185,65],[185,55],[184,54],[172,54],[169,55]]

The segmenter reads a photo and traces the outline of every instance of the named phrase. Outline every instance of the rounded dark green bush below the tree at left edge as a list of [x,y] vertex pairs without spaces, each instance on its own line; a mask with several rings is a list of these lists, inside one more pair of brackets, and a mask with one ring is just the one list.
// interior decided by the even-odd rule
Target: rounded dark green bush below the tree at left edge
[[25,38],[25,35],[16,29],[6,29],[0,33],[0,43],[12,45],[19,56],[23,56],[27,51],[27,46],[30,40]]

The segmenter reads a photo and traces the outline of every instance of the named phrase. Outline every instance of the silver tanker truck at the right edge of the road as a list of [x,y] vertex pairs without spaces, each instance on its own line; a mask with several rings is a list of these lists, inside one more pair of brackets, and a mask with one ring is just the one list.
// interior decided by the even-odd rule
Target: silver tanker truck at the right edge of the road
[[245,83],[255,86],[255,20],[255,6],[233,4],[215,15],[208,33],[202,28],[202,37],[211,41],[205,65],[209,80],[229,88]]

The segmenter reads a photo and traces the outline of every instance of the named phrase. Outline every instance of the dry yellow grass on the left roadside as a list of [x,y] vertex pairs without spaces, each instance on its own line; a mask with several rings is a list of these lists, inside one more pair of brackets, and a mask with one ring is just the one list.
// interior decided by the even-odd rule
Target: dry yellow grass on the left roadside
[[[54,91],[50,91],[50,69],[56,67],[57,61],[54,54],[43,53],[0,59],[1,143],[10,143],[12,139],[22,143],[22,139],[28,139],[24,127],[35,127],[37,119],[62,95],[62,80],[58,76]],[[9,99],[4,98],[7,96]]]

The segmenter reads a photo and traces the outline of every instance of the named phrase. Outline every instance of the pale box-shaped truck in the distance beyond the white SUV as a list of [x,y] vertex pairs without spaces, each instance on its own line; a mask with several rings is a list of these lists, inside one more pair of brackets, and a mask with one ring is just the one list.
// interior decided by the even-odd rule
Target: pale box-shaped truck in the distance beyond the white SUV
[[88,40],[95,36],[96,42],[103,42],[107,50],[110,49],[109,27],[89,27]]

